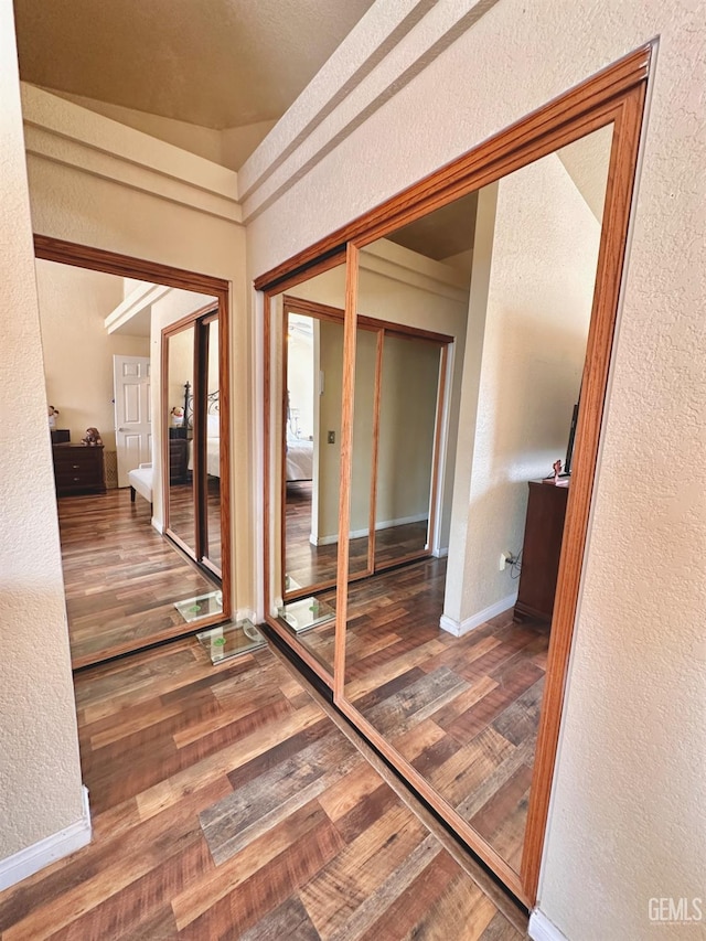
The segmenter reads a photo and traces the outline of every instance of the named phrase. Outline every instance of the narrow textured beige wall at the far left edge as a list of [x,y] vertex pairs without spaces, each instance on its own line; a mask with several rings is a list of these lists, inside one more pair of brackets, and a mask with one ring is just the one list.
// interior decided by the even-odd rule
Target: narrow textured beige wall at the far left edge
[[0,860],[83,817],[13,32],[0,3]]

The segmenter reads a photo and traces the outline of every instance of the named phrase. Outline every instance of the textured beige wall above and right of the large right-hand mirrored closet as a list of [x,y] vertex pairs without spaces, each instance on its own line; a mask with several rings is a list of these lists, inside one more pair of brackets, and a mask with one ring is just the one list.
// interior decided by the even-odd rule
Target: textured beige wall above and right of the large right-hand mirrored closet
[[[373,77],[389,86],[424,34],[422,22]],[[649,937],[651,897],[703,895],[703,4],[501,0],[318,162],[293,154],[290,179],[307,172],[249,226],[259,274],[656,35],[539,887],[573,941]],[[665,941],[697,931],[659,928]]]

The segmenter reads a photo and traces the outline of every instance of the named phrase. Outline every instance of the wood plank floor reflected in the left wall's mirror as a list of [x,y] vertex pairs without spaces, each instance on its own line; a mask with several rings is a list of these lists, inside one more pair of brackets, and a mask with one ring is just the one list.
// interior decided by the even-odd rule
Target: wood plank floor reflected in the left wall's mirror
[[194,630],[174,608],[216,587],[150,524],[129,490],[57,501],[74,667]]

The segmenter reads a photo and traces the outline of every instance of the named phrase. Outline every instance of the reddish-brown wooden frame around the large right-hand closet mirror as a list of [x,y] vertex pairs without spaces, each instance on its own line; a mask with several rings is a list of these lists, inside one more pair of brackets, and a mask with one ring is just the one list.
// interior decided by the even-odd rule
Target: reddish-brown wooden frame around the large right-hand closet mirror
[[[340,260],[345,252],[347,270],[339,533],[349,532],[359,249],[432,210],[473,190],[486,186],[599,128],[607,125],[613,126],[596,287],[582,376],[581,413],[576,432],[576,460],[564,530],[546,685],[539,718],[524,849],[518,873],[512,869],[492,846],[388,746],[383,736],[345,698],[349,567],[346,541],[340,543],[339,552],[334,704],[427,803],[450,824],[475,855],[522,902],[530,907],[536,899],[548,815],[651,60],[652,46],[642,46],[255,280],[256,289],[276,293],[284,290],[285,286],[311,277],[312,270],[327,265],[332,256]],[[266,468],[267,461],[266,455]],[[309,662],[309,657],[302,656],[302,660],[319,672],[315,665]]]

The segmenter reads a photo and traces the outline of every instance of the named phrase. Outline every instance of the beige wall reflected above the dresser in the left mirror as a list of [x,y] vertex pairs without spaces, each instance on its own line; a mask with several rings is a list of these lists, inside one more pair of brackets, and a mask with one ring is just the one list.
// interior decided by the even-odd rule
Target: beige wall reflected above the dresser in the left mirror
[[113,356],[149,356],[147,336],[108,333],[105,318],[122,300],[122,279],[100,271],[36,261],[36,287],[44,351],[46,398],[81,441],[98,428],[106,450],[115,451]]

